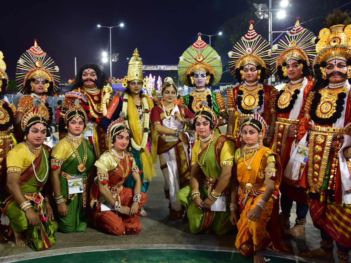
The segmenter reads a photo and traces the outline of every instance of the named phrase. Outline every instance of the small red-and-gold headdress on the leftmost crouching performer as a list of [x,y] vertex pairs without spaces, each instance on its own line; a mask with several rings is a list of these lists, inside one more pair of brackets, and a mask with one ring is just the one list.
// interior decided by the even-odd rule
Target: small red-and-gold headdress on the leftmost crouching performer
[[33,99],[33,107],[28,110],[22,117],[21,128],[23,131],[26,130],[27,127],[31,126],[34,123],[43,123],[47,126],[47,121],[49,120],[49,112],[45,107],[44,103],[42,103],[40,98]]

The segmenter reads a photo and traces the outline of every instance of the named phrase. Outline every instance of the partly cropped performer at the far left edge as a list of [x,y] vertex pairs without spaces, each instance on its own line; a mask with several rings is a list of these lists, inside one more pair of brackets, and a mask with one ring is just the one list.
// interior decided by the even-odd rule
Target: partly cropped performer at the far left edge
[[[9,101],[7,98],[5,98],[5,93],[8,85],[8,76],[5,72],[6,64],[3,58],[4,55],[2,55],[2,52],[0,51],[0,196],[4,190],[6,182],[6,157],[8,152],[14,146],[14,139],[11,136],[10,129],[14,123],[14,116],[16,114],[16,108],[14,105],[9,104]],[[8,241],[8,239],[0,232],[0,243],[6,241]]]

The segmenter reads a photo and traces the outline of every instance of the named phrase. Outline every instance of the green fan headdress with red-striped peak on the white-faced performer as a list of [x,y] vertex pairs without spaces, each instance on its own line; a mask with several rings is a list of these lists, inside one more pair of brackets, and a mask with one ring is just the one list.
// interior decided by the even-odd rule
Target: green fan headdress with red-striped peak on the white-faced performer
[[[181,83],[188,87],[195,86],[194,73],[203,70],[207,74],[206,84],[216,85],[222,77],[222,62],[220,56],[205,41],[201,40],[201,33],[198,40],[188,47],[183,55],[179,57],[178,76]],[[210,81],[211,74],[213,78]]]

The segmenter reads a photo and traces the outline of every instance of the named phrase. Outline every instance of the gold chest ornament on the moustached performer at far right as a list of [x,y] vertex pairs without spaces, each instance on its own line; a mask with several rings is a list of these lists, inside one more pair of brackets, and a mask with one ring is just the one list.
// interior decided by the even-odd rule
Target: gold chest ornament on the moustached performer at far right
[[339,93],[346,93],[347,88],[341,89],[321,89],[318,91],[322,97],[317,106],[316,115],[319,118],[330,118],[336,112],[336,100]]

